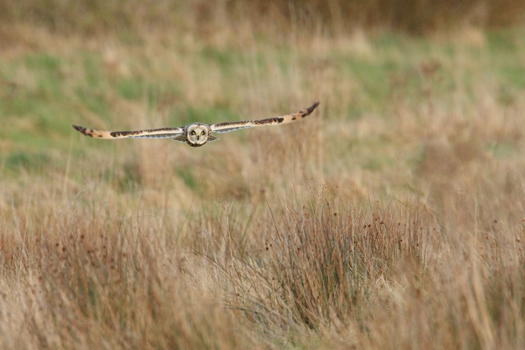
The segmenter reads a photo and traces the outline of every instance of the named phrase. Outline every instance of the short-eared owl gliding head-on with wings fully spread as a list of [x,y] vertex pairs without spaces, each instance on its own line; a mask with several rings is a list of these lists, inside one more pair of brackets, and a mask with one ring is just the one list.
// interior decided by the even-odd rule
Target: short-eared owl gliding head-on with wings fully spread
[[86,136],[96,137],[97,139],[125,139],[127,137],[140,139],[148,137],[152,139],[173,139],[173,141],[186,142],[192,147],[200,147],[208,141],[212,142],[218,140],[217,137],[212,135],[213,132],[223,133],[252,128],[253,126],[291,123],[312,113],[318,105],[319,102],[316,102],[305,110],[299,111],[297,113],[276,116],[275,118],[246,120],[240,122],[225,122],[212,125],[204,123],[191,123],[181,126],[180,128],[161,128],[139,131],[102,131],[87,129],[77,125],[73,125],[73,128]]

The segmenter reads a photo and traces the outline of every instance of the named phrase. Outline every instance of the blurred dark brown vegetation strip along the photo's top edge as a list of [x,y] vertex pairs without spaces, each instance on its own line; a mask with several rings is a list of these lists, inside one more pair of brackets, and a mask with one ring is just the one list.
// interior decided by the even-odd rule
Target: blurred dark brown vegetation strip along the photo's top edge
[[258,29],[296,24],[323,25],[335,32],[354,28],[386,28],[413,34],[450,27],[498,27],[523,23],[520,0],[18,0],[0,3],[7,23],[31,22],[62,33],[197,27],[208,35],[225,21],[248,21]]

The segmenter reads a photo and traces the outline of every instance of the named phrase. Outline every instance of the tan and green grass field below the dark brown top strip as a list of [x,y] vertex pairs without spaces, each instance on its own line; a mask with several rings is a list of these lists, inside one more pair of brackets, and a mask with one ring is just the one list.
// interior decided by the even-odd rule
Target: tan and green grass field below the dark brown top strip
[[525,28],[266,24],[0,25],[1,348],[525,347]]

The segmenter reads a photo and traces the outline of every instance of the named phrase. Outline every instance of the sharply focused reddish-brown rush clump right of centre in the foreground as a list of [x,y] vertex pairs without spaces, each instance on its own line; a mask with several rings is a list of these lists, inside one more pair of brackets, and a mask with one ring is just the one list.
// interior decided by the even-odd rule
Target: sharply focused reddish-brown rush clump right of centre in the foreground
[[[250,234],[258,237],[254,246],[233,238],[220,259],[209,253],[216,252],[209,241],[198,249],[228,282],[227,305],[272,337],[362,319],[373,294],[392,282],[399,261],[415,261],[419,273],[426,269],[432,228],[424,214],[401,206],[377,206],[371,213],[327,197],[313,200],[309,209],[300,203],[284,207],[278,219],[268,208],[264,232]],[[228,223],[231,205],[227,209]],[[223,230],[223,236],[235,236],[229,224]]]

